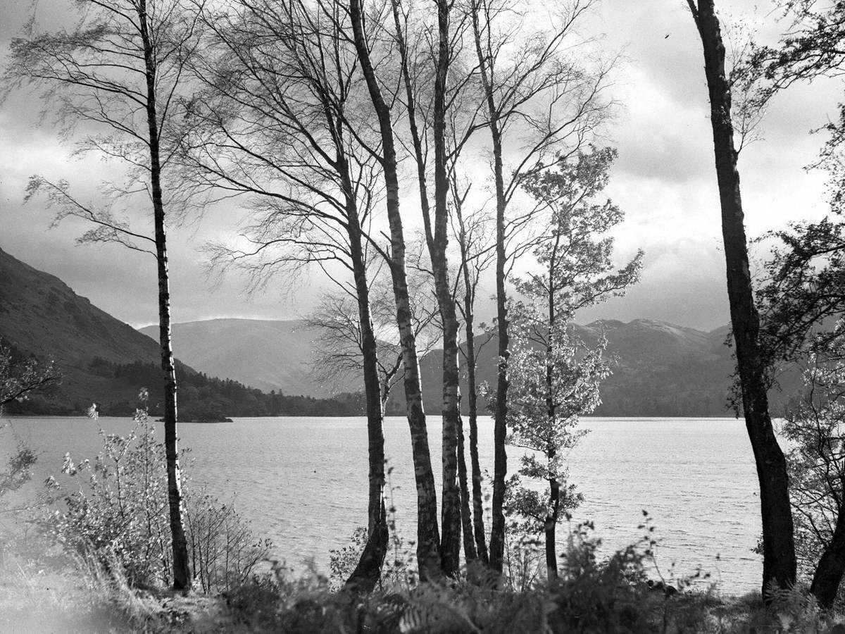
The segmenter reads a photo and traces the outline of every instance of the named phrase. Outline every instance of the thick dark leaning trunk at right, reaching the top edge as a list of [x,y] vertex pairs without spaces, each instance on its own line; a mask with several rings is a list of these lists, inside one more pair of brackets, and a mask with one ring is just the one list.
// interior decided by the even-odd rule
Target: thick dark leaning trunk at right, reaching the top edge
[[728,271],[731,325],[736,343],[745,428],[748,430],[760,480],[765,596],[771,582],[775,582],[779,588],[788,588],[795,582],[796,560],[788,475],[786,460],[777,443],[769,415],[764,375],[766,368],[760,354],[760,318],[751,286],[737,152],[733,145],[731,91],[725,76],[725,48],[712,0],[699,0],[697,8],[693,0],[687,1],[704,47],[713,148],[722,206],[722,239]]

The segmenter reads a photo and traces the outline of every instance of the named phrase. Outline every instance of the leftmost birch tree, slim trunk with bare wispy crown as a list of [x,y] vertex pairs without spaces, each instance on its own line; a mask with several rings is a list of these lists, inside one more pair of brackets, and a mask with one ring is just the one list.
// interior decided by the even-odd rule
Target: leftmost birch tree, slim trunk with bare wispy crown
[[[45,114],[55,115],[64,133],[79,132],[77,151],[115,161],[128,170],[128,179],[107,183],[101,206],[75,196],[69,183],[41,176],[30,179],[27,197],[46,195],[57,209],[56,223],[68,216],[89,221],[93,228],[82,242],[120,243],[155,258],[173,588],[188,591],[166,227],[188,207],[190,190],[177,183],[172,170],[174,123],[181,116],[178,98],[199,30],[182,0],[78,0],[74,5],[79,23],[73,30],[33,30],[12,42],[6,79],[12,86],[42,88]],[[121,207],[148,210],[150,230],[133,228],[118,212]]]

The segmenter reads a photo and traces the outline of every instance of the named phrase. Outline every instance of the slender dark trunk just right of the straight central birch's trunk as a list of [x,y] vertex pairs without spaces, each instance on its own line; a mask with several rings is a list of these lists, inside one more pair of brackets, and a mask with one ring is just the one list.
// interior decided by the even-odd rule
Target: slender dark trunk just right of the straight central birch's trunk
[[[466,260],[466,254],[464,254]],[[470,468],[472,470],[472,531],[475,535],[476,554],[484,566],[490,565],[487,552],[487,536],[484,533],[484,506],[481,491],[481,463],[478,460],[478,387],[476,382],[475,329],[472,325],[472,295],[470,292],[469,272],[464,266],[464,319],[466,320],[466,386],[469,394],[470,422]]]

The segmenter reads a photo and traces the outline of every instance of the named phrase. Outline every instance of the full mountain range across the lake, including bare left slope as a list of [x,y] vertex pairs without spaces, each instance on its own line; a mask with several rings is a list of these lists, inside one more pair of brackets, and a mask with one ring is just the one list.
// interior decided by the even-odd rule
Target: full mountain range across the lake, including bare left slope
[[[18,353],[57,362],[65,373],[58,400],[74,412],[85,411],[91,402],[125,407],[134,402],[137,381],[118,380],[117,370],[112,375],[102,370],[110,367],[108,363],[159,363],[157,342],[144,334],[156,336],[156,330],[155,326],[134,330],[76,295],[56,276],[0,250],[0,337]],[[576,325],[575,330],[586,340],[603,331],[608,353],[617,358],[613,375],[602,384],[602,405],[596,414],[728,415],[733,359],[725,345],[727,326],[705,332],[640,319],[597,321]],[[358,377],[341,385],[319,385],[313,379],[312,355],[319,336],[299,320],[217,319],[173,325],[176,356],[190,366],[180,371],[199,371],[288,396],[324,398],[361,391]],[[420,363],[425,406],[432,414],[440,408],[441,355],[434,350]],[[493,385],[495,369],[496,346],[490,342],[479,354],[479,382]],[[770,394],[776,415],[780,402],[798,385],[795,376],[784,383],[782,394]],[[390,411],[400,413],[401,387],[395,388],[391,400]]]

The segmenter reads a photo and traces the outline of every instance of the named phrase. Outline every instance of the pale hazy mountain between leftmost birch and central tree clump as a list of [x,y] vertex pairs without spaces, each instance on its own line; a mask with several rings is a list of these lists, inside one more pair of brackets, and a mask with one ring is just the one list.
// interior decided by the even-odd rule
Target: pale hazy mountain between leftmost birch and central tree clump
[[[157,325],[141,328],[155,336]],[[303,321],[222,319],[174,324],[175,353],[206,374],[237,380],[259,390],[330,396],[357,391],[354,385],[320,385],[310,376],[319,331]]]

